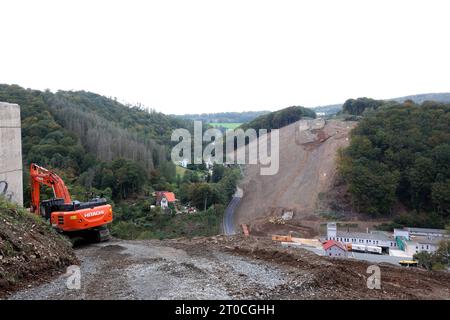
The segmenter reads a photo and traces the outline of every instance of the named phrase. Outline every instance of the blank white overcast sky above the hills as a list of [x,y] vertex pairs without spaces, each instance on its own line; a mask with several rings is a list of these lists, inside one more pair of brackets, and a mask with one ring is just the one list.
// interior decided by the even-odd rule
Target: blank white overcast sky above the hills
[[0,83],[164,113],[450,91],[449,1],[0,3]]

